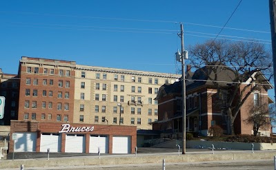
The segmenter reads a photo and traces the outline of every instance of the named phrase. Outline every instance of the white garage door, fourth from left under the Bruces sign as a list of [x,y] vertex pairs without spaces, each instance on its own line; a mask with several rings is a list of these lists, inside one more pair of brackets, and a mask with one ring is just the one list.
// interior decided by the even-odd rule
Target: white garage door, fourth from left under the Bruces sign
[[98,153],[98,147],[101,153],[108,153],[108,136],[90,136],[89,153]]

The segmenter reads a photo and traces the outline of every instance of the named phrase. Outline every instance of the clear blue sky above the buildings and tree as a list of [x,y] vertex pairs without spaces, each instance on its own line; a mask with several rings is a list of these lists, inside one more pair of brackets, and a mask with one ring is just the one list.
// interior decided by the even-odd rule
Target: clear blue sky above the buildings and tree
[[[31,56],[175,74],[179,22],[185,47],[204,42],[219,33],[239,1],[0,1],[0,67],[17,74],[21,56]],[[228,39],[270,43],[268,0],[243,0],[226,27],[221,35]]]

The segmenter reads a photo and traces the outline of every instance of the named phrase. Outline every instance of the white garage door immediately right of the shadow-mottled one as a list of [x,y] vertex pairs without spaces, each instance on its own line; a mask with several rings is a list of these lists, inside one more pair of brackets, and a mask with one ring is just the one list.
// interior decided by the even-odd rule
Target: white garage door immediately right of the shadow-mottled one
[[47,152],[61,152],[61,134],[41,134],[40,138],[40,151]]

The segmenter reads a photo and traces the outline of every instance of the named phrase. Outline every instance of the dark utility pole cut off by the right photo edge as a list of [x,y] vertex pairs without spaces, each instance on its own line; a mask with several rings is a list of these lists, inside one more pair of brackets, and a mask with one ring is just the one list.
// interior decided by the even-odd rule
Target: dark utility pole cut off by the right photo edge
[[[270,14],[270,30],[272,41],[272,54],[273,54],[273,72],[274,72],[274,85],[276,85],[276,0],[269,0],[269,14]],[[274,92],[276,97],[276,90]]]

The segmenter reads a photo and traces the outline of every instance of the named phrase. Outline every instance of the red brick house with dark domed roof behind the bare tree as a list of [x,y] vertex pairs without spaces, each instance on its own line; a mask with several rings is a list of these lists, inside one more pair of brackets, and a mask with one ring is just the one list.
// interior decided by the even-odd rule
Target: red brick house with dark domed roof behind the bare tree
[[[224,133],[227,133],[226,129],[229,124],[227,123],[228,117],[226,110],[224,110],[224,105],[226,98],[233,96],[231,94],[230,83],[232,83],[235,75],[233,75],[233,72],[229,72],[229,70],[219,68],[217,82],[221,90],[218,92],[213,82],[209,79],[209,77],[215,76],[215,74],[204,69],[206,68],[191,72],[190,66],[188,65],[187,67],[186,131],[208,136],[210,135],[209,128],[212,125],[219,125],[224,129]],[[205,75],[206,72],[210,74],[207,76]],[[257,76],[257,74],[260,76]],[[246,123],[246,119],[250,114],[248,113],[250,105],[260,105],[263,103],[268,106],[269,103],[273,103],[273,100],[268,97],[268,89],[273,88],[273,86],[259,72],[250,76],[262,79],[259,80],[262,83],[259,83],[258,88],[250,93],[250,96],[248,96],[246,102],[239,110],[234,122],[235,134],[253,134],[253,125]],[[246,76],[244,81],[241,82],[242,85],[239,88],[238,95],[242,94],[242,90],[246,85],[251,84],[251,88],[255,86],[255,83],[250,83],[250,76]],[[246,92],[250,92],[248,90],[250,88],[246,89]],[[243,92],[243,95],[246,92]],[[168,134],[175,134],[174,137],[181,137],[182,134],[179,133],[183,131],[181,81],[160,87],[156,99],[159,102],[159,116],[158,121],[153,123],[152,129],[168,132]],[[262,136],[270,136],[270,133],[270,125],[265,125],[259,129],[259,134]]]

